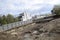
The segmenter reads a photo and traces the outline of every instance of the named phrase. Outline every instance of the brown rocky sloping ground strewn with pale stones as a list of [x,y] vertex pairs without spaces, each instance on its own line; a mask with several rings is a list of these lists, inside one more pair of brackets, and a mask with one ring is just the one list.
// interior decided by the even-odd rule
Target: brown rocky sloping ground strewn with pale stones
[[60,40],[60,18],[2,32],[0,40]]

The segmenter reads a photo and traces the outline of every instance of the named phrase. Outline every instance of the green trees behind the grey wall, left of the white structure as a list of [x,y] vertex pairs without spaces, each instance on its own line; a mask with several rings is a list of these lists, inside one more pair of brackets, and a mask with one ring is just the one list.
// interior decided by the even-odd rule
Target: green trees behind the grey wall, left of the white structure
[[0,15],[0,25],[9,24],[9,23],[17,22],[17,21],[21,21],[19,16],[18,17],[14,17],[11,14],[3,15],[3,16]]

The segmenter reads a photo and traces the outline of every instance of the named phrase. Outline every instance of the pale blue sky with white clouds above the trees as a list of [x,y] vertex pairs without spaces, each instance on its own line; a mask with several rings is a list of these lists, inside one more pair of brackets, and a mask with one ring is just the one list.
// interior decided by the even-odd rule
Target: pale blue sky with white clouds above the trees
[[0,0],[0,14],[49,13],[60,0]]

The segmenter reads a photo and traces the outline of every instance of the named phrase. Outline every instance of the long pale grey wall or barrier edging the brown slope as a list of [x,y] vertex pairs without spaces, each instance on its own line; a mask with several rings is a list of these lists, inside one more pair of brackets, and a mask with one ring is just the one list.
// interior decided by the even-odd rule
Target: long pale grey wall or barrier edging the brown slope
[[19,21],[19,22],[15,22],[15,23],[10,23],[10,24],[6,24],[6,25],[2,25],[0,26],[0,31],[6,31],[15,27],[20,27],[22,25],[27,25],[32,23],[32,20],[27,20],[27,21]]

